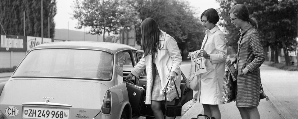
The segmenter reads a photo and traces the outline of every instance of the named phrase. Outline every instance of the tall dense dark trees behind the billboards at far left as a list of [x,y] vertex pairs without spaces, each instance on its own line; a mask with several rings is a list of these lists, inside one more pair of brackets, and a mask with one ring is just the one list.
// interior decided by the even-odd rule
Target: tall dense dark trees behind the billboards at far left
[[[25,11],[25,35],[41,37],[41,1],[40,0],[1,0],[0,22],[7,34],[24,34]],[[54,37],[56,15],[56,0],[43,1],[43,24],[48,24],[50,18],[50,37]],[[48,37],[48,25],[44,25],[43,36]],[[0,33],[4,32],[0,30]]]

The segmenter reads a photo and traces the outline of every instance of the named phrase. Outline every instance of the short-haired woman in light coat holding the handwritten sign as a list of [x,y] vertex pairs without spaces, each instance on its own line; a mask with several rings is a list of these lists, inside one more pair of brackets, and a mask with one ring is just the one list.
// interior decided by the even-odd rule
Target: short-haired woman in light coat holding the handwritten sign
[[[222,85],[224,77],[224,65],[227,59],[227,47],[224,33],[216,23],[219,21],[218,12],[207,9],[201,14],[201,21],[205,27],[205,38],[201,46],[201,56],[207,72],[201,73],[201,86],[198,92],[198,100],[203,104],[204,113],[216,119],[221,118],[218,105],[224,104],[222,97]],[[190,57],[192,52],[188,54]]]

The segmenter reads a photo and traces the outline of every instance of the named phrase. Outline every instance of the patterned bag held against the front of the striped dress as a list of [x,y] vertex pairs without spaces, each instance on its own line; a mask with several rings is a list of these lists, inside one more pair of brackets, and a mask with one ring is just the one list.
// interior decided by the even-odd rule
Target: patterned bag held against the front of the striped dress
[[230,103],[235,100],[237,80],[233,82],[232,74],[230,73],[227,64],[225,65],[224,83],[223,83],[223,102]]

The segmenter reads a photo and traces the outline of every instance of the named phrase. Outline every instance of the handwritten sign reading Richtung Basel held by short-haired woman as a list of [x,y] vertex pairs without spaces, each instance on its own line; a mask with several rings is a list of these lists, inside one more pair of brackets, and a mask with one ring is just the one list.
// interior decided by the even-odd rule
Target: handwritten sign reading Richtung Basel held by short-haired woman
[[191,59],[192,59],[192,71],[194,71],[195,74],[207,72],[204,59],[203,57],[201,57],[200,50],[192,52]]

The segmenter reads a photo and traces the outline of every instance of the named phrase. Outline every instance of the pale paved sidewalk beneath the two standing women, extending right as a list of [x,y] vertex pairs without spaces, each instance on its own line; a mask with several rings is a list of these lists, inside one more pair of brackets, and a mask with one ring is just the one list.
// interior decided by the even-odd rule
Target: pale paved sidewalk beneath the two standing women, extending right
[[[262,99],[258,110],[261,119],[296,119],[298,118],[298,72],[284,71],[262,65],[261,79],[264,92],[269,101]],[[219,105],[222,119],[241,119],[235,106],[236,102]],[[181,119],[191,119],[204,114],[202,104],[196,102]]]

